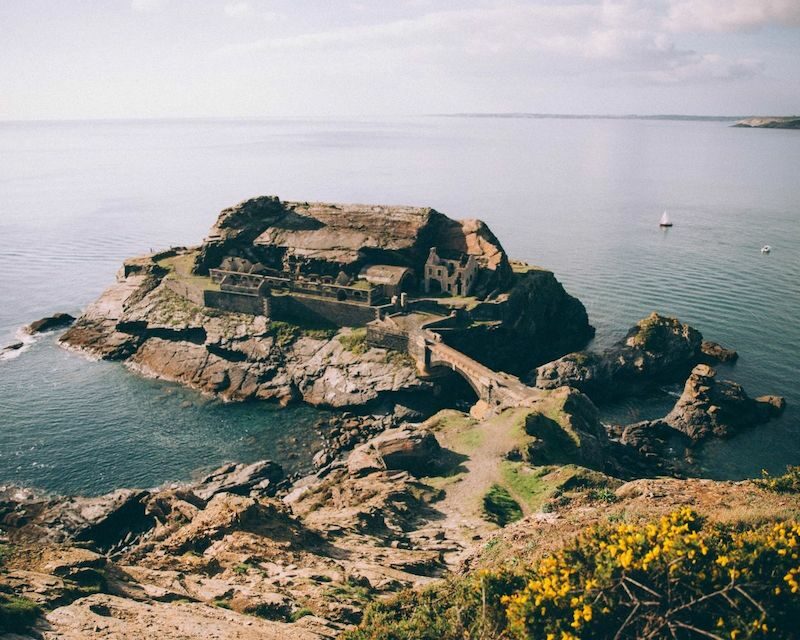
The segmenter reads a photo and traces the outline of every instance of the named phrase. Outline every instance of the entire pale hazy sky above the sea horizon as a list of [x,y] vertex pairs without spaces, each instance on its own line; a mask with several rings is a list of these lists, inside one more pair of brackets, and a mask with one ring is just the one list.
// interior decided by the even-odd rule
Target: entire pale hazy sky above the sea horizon
[[800,113],[800,0],[0,0],[0,119]]

